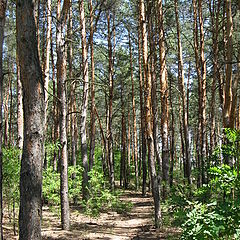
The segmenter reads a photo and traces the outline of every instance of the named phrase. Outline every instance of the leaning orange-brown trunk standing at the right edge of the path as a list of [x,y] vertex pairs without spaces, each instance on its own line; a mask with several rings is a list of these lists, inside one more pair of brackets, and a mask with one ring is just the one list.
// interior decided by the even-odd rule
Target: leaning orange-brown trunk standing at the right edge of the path
[[146,75],[145,79],[145,94],[146,94],[146,106],[145,106],[145,119],[146,119],[146,135],[148,143],[148,163],[151,175],[152,195],[154,200],[154,217],[155,227],[159,228],[162,223],[161,209],[160,209],[160,177],[156,173],[156,164],[154,159],[154,141],[153,141],[153,126],[152,126],[152,103],[151,103],[151,73],[148,63],[148,44],[147,44],[147,28],[145,18],[145,6],[144,1],[139,1],[140,16],[141,16],[141,28],[142,28],[142,41],[143,41],[143,67]]

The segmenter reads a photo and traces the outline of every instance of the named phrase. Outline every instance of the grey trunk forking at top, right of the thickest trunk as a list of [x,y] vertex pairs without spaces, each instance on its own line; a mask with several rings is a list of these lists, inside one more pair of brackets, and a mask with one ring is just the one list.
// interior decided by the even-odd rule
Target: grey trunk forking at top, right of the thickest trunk
[[[58,8],[61,1],[58,0]],[[66,102],[66,50],[64,33],[69,1],[65,0],[57,24],[57,80],[59,99],[59,127],[60,127],[60,196],[61,196],[61,224],[63,230],[69,229],[69,200],[68,200],[68,156],[67,156],[67,102]]]

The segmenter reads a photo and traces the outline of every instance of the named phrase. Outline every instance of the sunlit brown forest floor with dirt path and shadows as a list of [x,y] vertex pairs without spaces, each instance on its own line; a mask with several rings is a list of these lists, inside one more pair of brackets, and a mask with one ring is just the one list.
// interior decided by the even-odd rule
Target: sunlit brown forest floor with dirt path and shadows
[[[43,240],[157,240],[179,239],[177,228],[153,226],[153,201],[150,195],[142,197],[140,193],[126,191],[122,201],[130,201],[130,212],[101,213],[98,218],[88,217],[82,209],[71,209],[71,227],[69,231],[61,230],[59,214],[43,207]],[[6,239],[18,239],[10,229],[5,228]]]

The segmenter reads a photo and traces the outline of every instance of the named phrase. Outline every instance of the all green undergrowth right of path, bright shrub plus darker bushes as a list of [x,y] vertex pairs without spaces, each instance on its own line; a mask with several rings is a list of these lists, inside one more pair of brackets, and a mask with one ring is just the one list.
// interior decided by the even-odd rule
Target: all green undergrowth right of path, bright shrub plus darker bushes
[[[240,239],[240,132],[226,129],[225,136],[226,144],[210,158],[208,184],[200,188],[178,184],[166,202],[165,218],[182,228],[183,240]],[[220,154],[235,164],[221,164]]]

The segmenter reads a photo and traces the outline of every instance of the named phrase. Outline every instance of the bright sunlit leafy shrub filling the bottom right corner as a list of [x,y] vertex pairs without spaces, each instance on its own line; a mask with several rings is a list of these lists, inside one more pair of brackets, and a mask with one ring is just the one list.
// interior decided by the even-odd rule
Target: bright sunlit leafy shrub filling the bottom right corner
[[[227,157],[239,158],[240,132],[225,129],[225,136],[226,144],[214,153],[215,163],[220,162],[221,152]],[[208,185],[194,191],[198,201],[189,202],[191,211],[185,212],[187,219],[182,224],[182,239],[239,239],[240,178],[237,170],[225,164],[210,167],[209,177]]]

